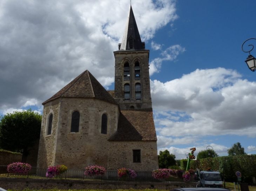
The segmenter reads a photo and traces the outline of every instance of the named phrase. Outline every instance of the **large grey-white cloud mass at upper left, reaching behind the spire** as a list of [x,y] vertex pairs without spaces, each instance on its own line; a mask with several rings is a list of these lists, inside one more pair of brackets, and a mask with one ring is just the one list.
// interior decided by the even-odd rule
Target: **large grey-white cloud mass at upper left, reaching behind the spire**
[[[40,105],[86,69],[111,85],[129,3],[0,1],[0,111]],[[143,41],[177,19],[175,1],[134,1],[133,10]]]

